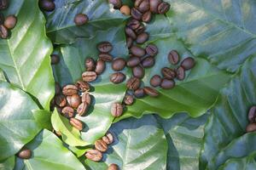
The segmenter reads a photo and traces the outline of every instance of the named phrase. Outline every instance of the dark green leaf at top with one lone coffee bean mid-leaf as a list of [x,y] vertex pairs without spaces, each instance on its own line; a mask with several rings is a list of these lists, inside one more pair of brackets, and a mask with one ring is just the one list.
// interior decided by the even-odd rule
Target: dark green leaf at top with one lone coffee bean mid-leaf
[[[94,37],[97,31],[119,26],[127,18],[110,8],[106,0],[55,0],[55,11],[47,15],[47,34],[57,44],[72,43],[78,37]],[[76,14],[89,17],[84,26],[75,26]]]

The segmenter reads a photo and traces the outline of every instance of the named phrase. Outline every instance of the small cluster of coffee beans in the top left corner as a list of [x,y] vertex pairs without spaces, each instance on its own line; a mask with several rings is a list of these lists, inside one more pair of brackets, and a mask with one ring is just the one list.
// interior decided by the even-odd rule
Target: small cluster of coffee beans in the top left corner
[[17,23],[17,18],[15,15],[10,14],[4,18],[2,10],[9,7],[9,0],[0,0],[0,38],[7,39],[10,35],[10,30],[15,28]]

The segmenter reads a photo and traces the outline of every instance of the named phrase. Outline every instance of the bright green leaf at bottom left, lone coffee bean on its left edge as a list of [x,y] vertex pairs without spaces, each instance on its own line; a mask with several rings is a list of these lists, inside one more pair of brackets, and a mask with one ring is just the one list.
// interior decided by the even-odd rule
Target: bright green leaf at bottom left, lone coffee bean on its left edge
[[26,148],[32,150],[32,157],[27,160],[16,158],[15,170],[75,170],[85,169],[76,156],[62,145],[54,133],[43,130]]

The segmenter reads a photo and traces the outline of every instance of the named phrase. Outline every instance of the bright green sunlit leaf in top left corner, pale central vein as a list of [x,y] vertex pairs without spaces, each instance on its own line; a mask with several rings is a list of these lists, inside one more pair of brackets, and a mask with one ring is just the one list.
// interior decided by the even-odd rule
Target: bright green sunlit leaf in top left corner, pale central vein
[[38,1],[14,0],[3,14],[15,14],[17,24],[9,39],[0,39],[0,68],[9,82],[32,94],[49,110],[55,90],[49,59],[52,45],[45,36],[45,20]]

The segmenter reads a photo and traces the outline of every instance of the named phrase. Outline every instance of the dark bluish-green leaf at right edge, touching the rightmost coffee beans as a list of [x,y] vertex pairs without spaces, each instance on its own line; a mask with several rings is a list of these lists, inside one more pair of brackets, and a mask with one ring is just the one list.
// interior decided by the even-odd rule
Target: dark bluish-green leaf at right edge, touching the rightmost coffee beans
[[219,151],[245,133],[247,111],[256,103],[256,58],[247,59],[228,86],[221,90],[221,95],[205,129],[205,144],[201,153],[201,169],[208,163],[210,169],[215,167],[213,158]]

